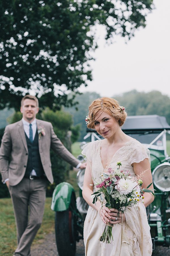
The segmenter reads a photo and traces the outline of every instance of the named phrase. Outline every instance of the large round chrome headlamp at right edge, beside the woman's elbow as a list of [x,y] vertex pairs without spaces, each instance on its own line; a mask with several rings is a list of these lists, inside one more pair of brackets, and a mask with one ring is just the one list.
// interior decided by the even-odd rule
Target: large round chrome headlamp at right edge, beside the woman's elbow
[[170,191],[170,163],[159,164],[152,172],[154,185],[160,191]]

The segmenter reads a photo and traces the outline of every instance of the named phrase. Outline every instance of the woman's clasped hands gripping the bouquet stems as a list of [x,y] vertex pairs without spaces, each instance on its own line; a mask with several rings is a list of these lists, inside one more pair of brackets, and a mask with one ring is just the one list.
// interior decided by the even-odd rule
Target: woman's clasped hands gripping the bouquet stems
[[[110,222],[111,224],[122,223],[122,212],[119,212],[118,217],[118,210],[114,208],[109,209],[103,206],[103,208],[100,210],[100,216],[105,224],[107,224],[107,222]],[[123,213],[123,221],[125,220],[125,214]]]

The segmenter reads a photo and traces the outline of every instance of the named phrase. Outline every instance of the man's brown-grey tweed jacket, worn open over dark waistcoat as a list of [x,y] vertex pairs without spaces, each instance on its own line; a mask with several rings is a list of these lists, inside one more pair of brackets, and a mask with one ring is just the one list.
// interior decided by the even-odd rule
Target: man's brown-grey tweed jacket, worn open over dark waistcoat
[[[45,135],[41,135],[39,153],[47,179],[53,183],[50,148],[61,158],[76,167],[79,161],[65,148],[54,133],[52,124],[36,119],[37,128],[43,126]],[[10,162],[9,162],[10,160]],[[28,148],[22,120],[7,125],[0,147],[0,172],[2,182],[9,178],[9,185],[15,186],[23,179],[28,160]]]

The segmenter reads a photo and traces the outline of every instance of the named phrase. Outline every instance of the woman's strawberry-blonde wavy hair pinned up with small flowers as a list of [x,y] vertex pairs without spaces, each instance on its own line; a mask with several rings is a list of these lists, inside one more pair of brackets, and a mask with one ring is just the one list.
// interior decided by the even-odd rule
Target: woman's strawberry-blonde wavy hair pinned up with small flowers
[[97,115],[97,112],[107,112],[109,115],[112,115],[116,121],[118,121],[119,126],[124,124],[126,120],[127,113],[125,110],[122,110],[119,106],[119,102],[112,98],[103,97],[94,100],[89,106],[89,123],[88,128],[94,129],[94,121]]

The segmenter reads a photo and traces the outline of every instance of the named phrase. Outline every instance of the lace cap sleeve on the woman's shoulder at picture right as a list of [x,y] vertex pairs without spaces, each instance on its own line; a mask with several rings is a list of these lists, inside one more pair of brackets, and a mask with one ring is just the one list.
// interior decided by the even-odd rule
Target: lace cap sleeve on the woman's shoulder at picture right
[[131,146],[130,165],[133,165],[133,163],[140,163],[145,158],[148,158],[150,162],[150,151],[148,148],[139,141],[134,141]]

